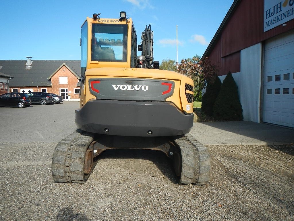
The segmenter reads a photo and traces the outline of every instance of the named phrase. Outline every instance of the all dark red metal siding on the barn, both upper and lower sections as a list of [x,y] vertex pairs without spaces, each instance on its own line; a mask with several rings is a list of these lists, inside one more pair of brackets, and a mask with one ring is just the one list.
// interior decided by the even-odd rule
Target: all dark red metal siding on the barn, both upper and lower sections
[[211,62],[219,66],[219,75],[226,75],[229,70],[240,71],[241,50],[294,29],[292,19],[284,27],[280,25],[263,32],[263,14],[264,0],[240,1],[208,55]]

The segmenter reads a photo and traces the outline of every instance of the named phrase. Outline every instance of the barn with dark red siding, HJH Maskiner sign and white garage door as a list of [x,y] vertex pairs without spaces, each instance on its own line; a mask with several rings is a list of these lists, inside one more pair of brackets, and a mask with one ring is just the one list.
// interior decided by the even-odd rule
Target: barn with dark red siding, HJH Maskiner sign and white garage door
[[235,0],[203,54],[233,74],[245,121],[294,127],[293,3]]

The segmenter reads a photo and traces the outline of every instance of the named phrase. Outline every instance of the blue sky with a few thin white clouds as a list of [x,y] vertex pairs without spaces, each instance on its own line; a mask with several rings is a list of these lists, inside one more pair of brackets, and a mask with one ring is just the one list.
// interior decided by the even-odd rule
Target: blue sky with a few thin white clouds
[[[0,60],[80,60],[86,17],[133,19],[138,42],[153,30],[154,60],[202,56],[233,0],[0,0]],[[138,52],[140,55],[140,52]]]

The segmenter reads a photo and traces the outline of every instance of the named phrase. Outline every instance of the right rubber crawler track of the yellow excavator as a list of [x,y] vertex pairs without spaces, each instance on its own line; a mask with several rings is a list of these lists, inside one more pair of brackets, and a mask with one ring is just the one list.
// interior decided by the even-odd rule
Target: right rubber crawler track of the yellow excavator
[[187,133],[175,139],[181,149],[182,174],[180,183],[204,185],[210,181],[211,155],[206,147]]

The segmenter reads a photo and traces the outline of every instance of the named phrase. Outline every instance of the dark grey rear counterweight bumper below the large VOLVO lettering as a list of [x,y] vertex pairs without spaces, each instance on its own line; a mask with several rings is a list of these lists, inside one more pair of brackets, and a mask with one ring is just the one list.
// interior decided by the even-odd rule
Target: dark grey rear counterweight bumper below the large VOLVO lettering
[[176,136],[193,126],[193,114],[185,115],[168,102],[89,100],[75,115],[84,131],[118,136]]

